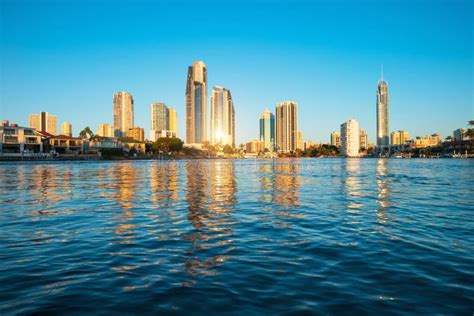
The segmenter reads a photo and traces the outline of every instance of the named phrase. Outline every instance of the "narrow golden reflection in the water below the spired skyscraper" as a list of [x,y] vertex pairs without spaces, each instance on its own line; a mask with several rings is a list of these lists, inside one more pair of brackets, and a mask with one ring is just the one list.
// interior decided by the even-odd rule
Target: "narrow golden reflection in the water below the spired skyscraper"
[[388,179],[388,162],[387,159],[379,159],[377,161],[376,170],[377,182],[377,218],[379,224],[386,224],[388,221],[387,209],[390,207],[390,180]]

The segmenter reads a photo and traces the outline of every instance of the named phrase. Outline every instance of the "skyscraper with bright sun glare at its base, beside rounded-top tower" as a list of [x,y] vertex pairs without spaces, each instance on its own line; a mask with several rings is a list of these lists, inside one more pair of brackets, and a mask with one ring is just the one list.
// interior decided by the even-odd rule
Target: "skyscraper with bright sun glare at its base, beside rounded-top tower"
[[212,88],[211,144],[235,147],[235,109],[230,90]]

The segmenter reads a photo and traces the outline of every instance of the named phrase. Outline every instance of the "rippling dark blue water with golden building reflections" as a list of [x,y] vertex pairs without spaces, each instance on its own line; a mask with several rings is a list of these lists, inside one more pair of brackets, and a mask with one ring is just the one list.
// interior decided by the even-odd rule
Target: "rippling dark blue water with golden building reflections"
[[474,311],[474,160],[0,164],[0,314]]

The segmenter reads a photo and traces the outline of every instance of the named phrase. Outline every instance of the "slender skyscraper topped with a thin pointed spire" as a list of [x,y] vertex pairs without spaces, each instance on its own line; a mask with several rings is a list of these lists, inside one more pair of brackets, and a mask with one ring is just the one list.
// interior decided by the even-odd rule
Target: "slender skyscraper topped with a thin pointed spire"
[[377,147],[379,150],[390,145],[388,126],[388,85],[382,77],[377,85]]

